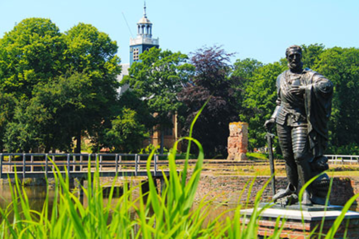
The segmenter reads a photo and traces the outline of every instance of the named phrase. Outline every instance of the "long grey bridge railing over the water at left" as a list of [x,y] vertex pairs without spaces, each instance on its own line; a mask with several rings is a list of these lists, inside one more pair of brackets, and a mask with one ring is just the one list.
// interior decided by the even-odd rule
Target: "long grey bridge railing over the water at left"
[[[55,171],[55,164],[61,173],[86,173],[89,170],[99,172],[134,172],[134,175],[144,171],[150,154],[121,154],[121,153],[0,153],[0,178],[5,173],[30,177],[31,173],[43,173],[48,177]],[[151,158],[150,170],[157,175],[158,167],[168,165],[168,161],[159,160],[168,154],[154,154]],[[51,160],[50,160],[51,159]],[[90,168],[88,168],[90,166]],[[28,175],[27,175],[28,174]]]

